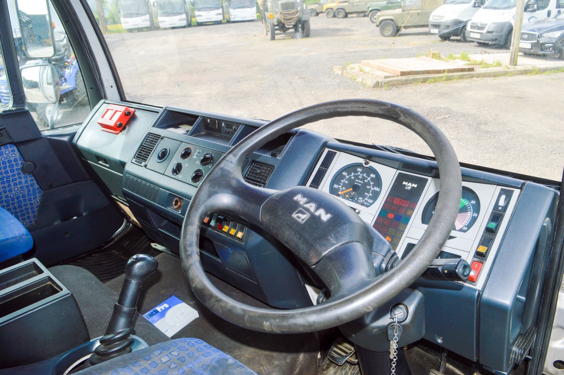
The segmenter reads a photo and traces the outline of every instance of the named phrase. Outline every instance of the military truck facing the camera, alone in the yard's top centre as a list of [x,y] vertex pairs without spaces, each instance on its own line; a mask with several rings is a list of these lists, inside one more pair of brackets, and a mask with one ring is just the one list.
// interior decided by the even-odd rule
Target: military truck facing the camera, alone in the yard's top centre
[[310,14],[303,0],[265,0],[261,2],[261,15],[271,41],[276,31],[294,30],[297,38],[310,36]]

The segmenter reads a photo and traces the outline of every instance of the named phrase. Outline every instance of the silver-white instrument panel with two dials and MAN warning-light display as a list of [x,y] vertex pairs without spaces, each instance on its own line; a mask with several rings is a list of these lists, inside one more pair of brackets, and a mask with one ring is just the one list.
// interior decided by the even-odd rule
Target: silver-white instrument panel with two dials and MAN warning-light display
[[[440,179],[399,170],[342,151],[325,149],[306,186],[346,201],[403,258],[425,232],[437,206]],[[479,267],[466,284],[481,289],[501,242],[518,189],[462,182],[459,213],[439,258],[463,258]],[[496,214],[503,204],[503,213]],[[489,217],[489,219],[488,219]],[[492,221],[493,220],[493,221]],[[489,231],[489,232],[488,232]],[[487,246],[484,246],[487,244]],[[485,250],[484,250],[485,249]]]

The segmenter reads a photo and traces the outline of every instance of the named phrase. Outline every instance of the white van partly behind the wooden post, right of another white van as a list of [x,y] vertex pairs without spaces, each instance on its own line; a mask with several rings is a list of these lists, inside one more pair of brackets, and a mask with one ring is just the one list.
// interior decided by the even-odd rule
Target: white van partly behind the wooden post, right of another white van
[[[557,2],[558,0],[527,1],[523,24],[554,16]],[[466,25],[466,38],[509,48],[515,20],[515,3],[517,0],[488,0]]]

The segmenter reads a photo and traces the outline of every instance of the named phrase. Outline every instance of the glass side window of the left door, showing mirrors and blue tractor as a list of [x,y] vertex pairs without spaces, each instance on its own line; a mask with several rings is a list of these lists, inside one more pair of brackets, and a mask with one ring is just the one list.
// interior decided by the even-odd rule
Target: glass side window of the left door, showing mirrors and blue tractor
[[[36,120],[39,130],[42,131],[81,123],[91,109],[80,67],[63,23],[51,0],[48,10],[45,9],[45,1],[8,0],[27,108]],[[50,15],[50,25],[49,15],[45,15],[46,11]],[[52,38],[49,37],[51,31]],[[47,45],[46,48],[51,48],[51,52],[54,50],[54,54],[49,58],[31,57],[34,51],[29,46],[26,50],[25,41],[28,39],[24,41],[23,36],[47,40],[48,42],[44,44]],[[1,82],[2,78],[0,78],[0,88]]]

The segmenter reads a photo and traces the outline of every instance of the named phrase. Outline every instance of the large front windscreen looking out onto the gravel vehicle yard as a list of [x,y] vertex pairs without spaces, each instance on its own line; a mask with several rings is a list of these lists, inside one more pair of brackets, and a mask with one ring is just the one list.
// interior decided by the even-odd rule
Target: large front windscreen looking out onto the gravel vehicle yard
[[[122,0],[122,17],[135,8],[126,1],[134,4]],[[377,99],[433,121],[462,163],[561,179],[564,48],[554,42],[562,38],[557,23],[547,20],[564,10],[562,0],[524,13],[517,65],[510,61],[516,0],[484,7],[448,0],[467,6],[433,16],[443,0],[309,8],[318,1],[193,0],[186,2],[188,23],[174,24],[157,19],[157,10],[179,7],[172,0],[135,3],[148,5],[151,23],[121,21],[109,0],[100,10],[88,3],[96,20],[106,20],[100,30],[125,100],[270,121],[330,100]],[[292,11],[283,14],[281,4],[288,3]],[[416,12],[421,5],[425,11]],[[257,11],[229,11],[244,6]],[[368,6],[381,8],[367,15]],[[537,41],[547,33],[553,37]],[[338,117],[305,128],[433,156],[417,135],[387,120]]]

